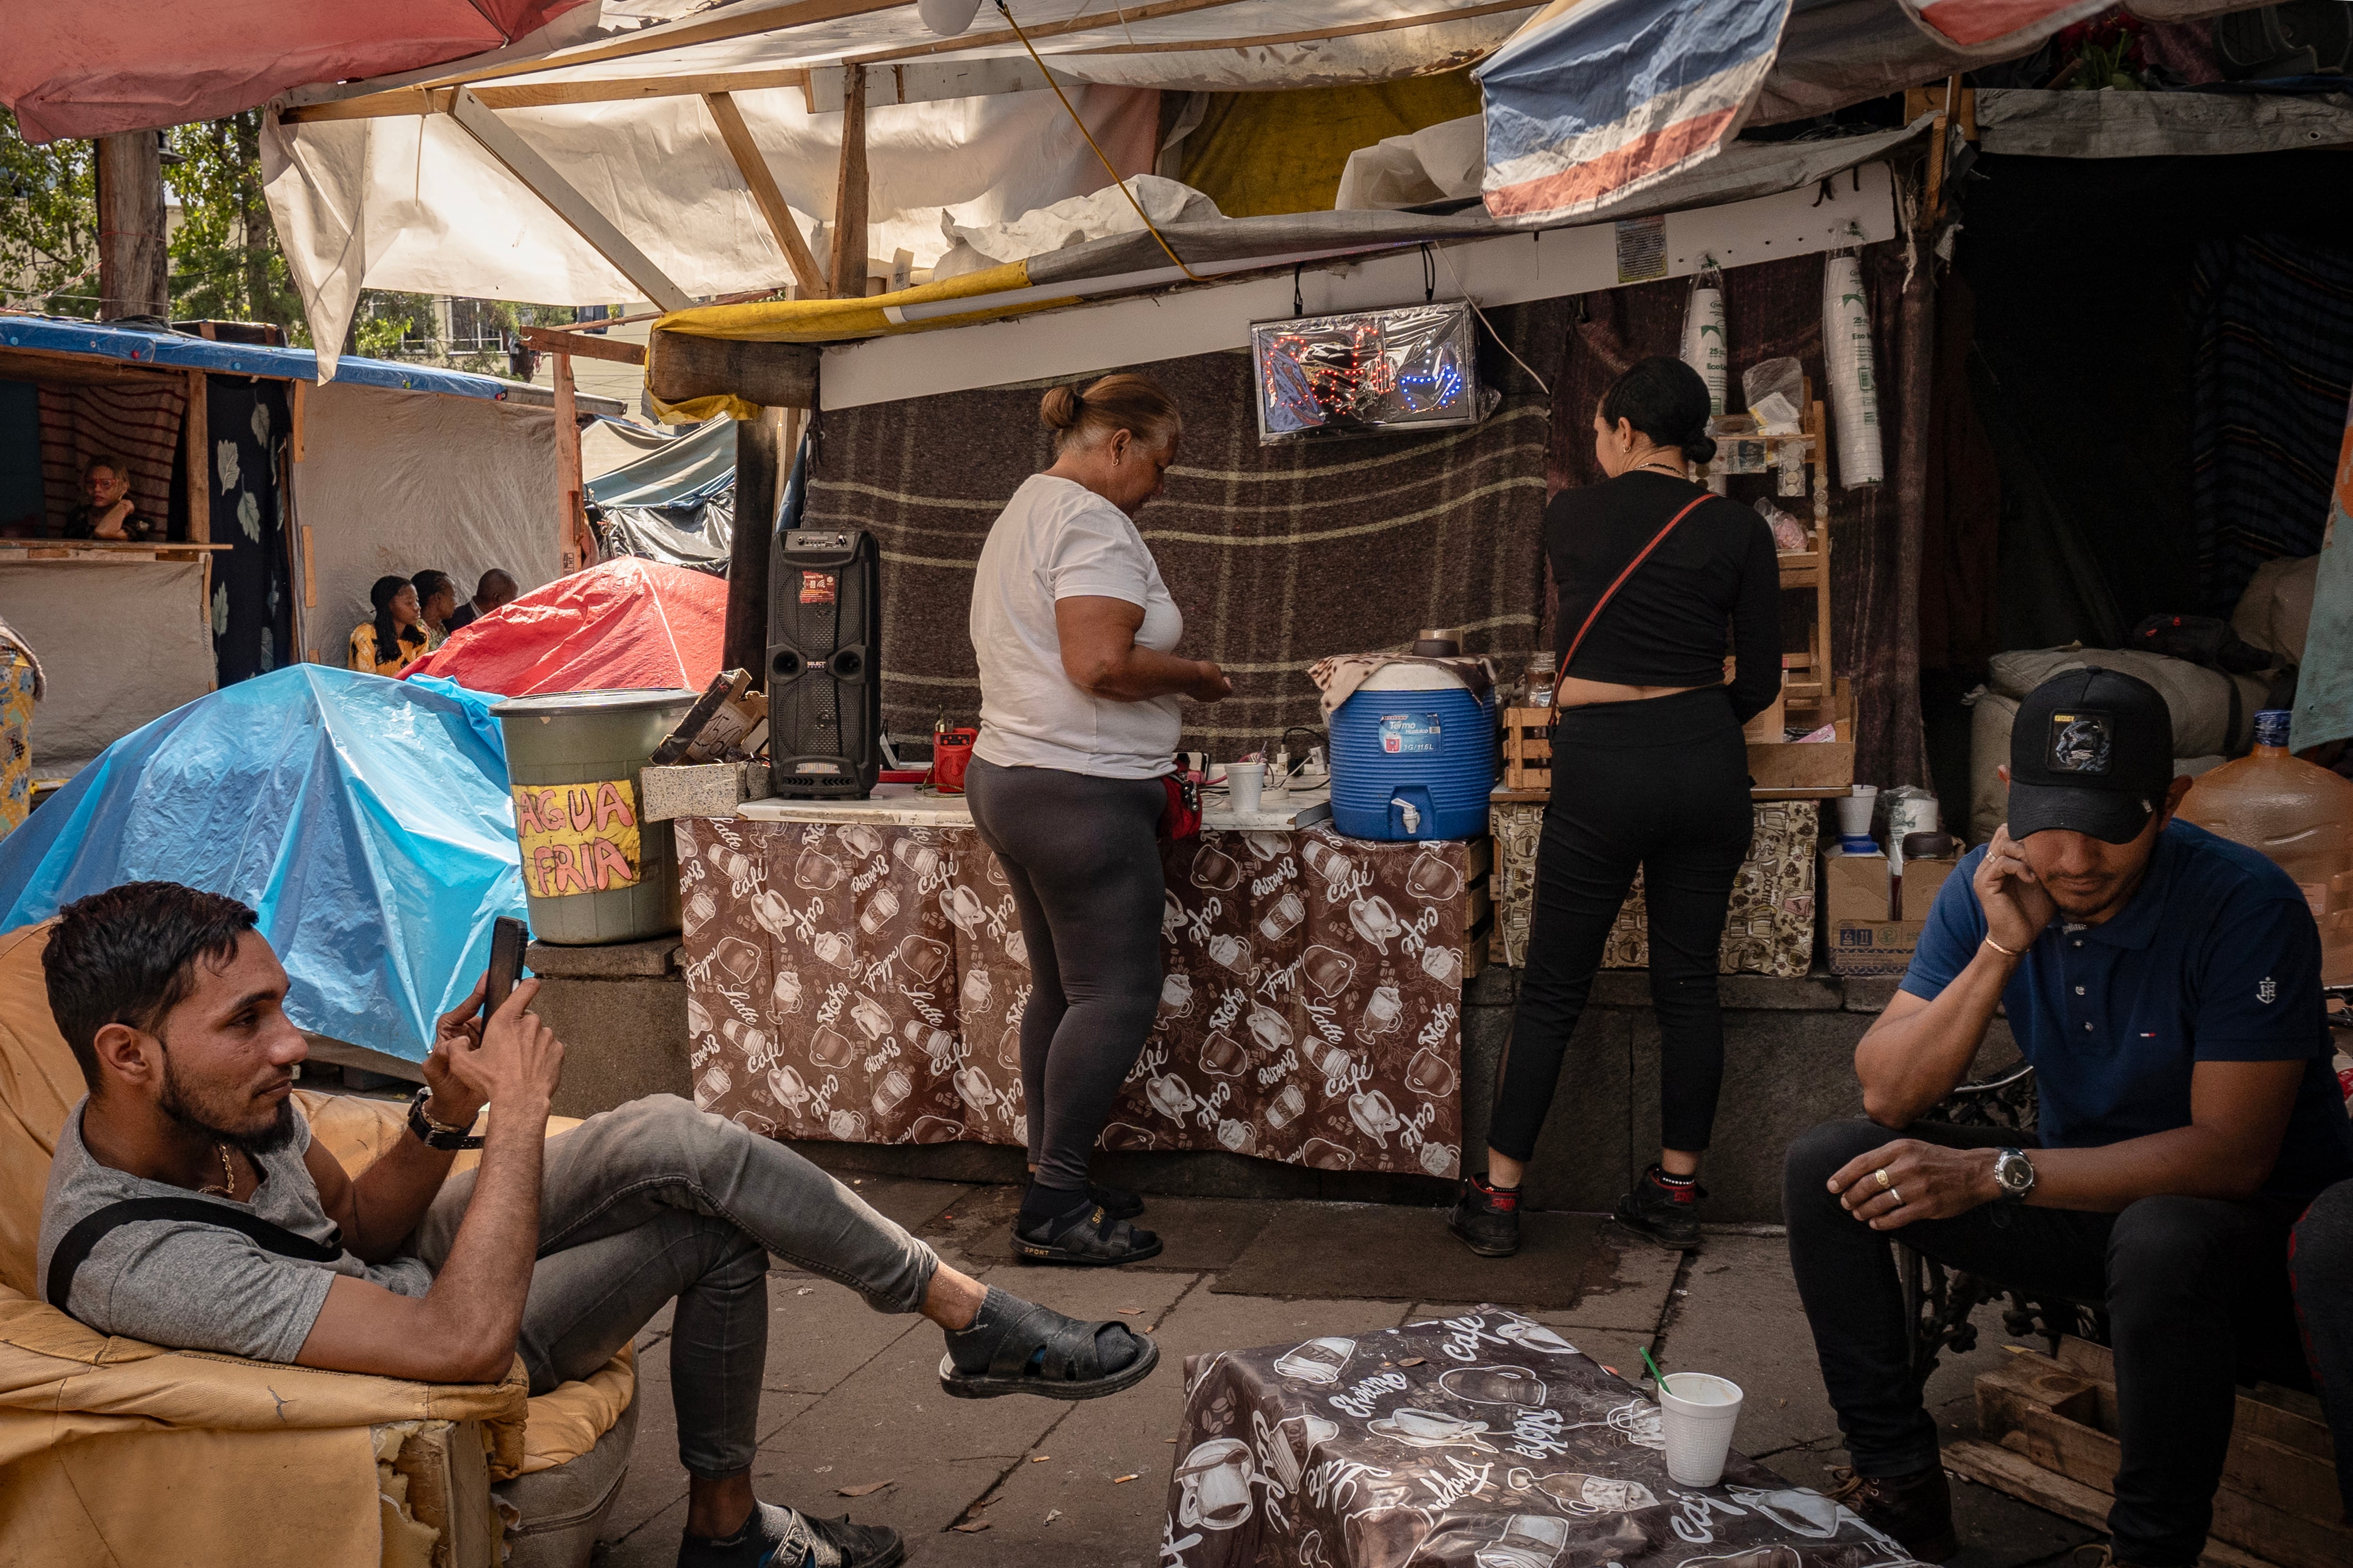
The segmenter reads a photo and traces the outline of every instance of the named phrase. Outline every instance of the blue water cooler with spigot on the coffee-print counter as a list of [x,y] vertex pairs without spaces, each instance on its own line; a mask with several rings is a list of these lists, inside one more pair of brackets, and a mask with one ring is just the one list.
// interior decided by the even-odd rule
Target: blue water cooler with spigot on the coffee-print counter
[[1494,693],[1435,665],[1381,665],[1332,715],[1332,827],[1351,839],[1487,832]]

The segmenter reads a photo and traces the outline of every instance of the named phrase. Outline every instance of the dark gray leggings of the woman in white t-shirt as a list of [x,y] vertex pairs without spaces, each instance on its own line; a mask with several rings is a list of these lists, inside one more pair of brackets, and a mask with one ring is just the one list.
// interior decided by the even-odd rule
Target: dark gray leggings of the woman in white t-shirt
[[1160,1006],[1167,785],[974,757],[965,792],[1012,884],[1031,959],[1021,1011],[1028,1157],[1040,1187],[1080,1192]]

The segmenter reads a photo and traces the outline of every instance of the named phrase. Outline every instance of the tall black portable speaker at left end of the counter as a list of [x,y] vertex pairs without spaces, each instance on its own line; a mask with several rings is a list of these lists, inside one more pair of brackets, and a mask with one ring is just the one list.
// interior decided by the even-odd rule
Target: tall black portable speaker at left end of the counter
[[866,799],[882,773],[882,595],[864,529],[784,529],[767,574],[769,788]]

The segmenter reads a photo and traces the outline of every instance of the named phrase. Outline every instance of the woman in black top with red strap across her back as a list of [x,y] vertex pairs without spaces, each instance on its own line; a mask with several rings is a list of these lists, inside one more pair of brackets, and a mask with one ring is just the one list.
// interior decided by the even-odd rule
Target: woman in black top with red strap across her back
[[[1741,724],[1781,689],[1772,529],[1687,477],[1692,463],[1715,456],[1699,371],[1659,357],[1619,376],[1593,416],[1593,456],[1609,480],[1565,489],[1544,512],[1562,654],[1553,799],[1544,809],[1527,973],[1497,1074],[1487,1171],[1464,1178],[1452,1220],[1454,1234],[1489,1258],[1520,1246],[1520,1178],[1638,867],[1649,907],[1664,1135],[1659,1164],[1619,1199],[1617,1220],[1668,1248],[1699,1241],[1699,1154],[1725,1072],[1715,954],[1732,879],[1748,858]],[[1633,564],[1647,545],[1649,555]],[[1626,578],[1602,604],[1619,574]],[[1737,670],[1729,682],[1727,651]]]

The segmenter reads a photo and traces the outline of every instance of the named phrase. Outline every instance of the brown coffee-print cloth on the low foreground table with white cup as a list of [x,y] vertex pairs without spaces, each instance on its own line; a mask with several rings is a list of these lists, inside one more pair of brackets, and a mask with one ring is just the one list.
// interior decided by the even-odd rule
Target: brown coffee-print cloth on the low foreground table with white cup
[[1659,1408],[1504,1307],[1186,1359],[1160,1568],[1889,1568],[1734,1453],[1666,1476]]

